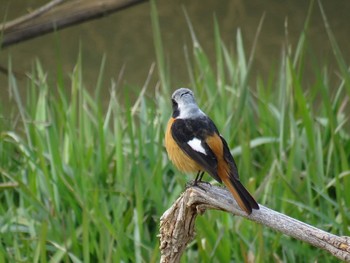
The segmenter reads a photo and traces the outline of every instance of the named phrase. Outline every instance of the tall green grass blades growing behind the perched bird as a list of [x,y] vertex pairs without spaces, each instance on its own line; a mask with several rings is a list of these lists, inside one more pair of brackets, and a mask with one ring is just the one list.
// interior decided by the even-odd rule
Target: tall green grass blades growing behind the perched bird
[[[104,87],[111,92],[102,107],[104,59],[94,94],[84,87],[80,58],[69,89],[62,79],[57,86],[48,84],[37,63],[26,100],[9,75],[19,117],[5,117],[0,109],[0,262],[159,261],[159,218],[193,176],[174,169],[163,146],[173,89],[154,3],[152,13],[161,88],[140,87],[136,100],[112,83]],[[259,203],[350,235],[350,74],[328,30],[338,83],[331,86],[334,73],[315,63],[315,79],[305,86],[304,67],[311,59],[305,32],[296,50],[283,53],[270,79],[252,84],[240,31],[236,50],[229,50],[215,22],[212,67],[190,27],[188,87],[216,121],[241,180]],[[223,212],[199,217],[196,232],[182,262],[338,261]]]

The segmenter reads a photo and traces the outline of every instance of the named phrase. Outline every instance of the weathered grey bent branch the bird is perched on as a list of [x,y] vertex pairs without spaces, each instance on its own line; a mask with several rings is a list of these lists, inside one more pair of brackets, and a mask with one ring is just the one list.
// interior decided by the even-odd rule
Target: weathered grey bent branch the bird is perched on
[[191,187],[175,201],[160,219],[161,262],[179,262],[187,244],[195,236],[198,214],[207,209],[222,210],[245,217],[285,235],[324,249],[335,257],[350,261],[350,237],[339,237],[260,205],[251,215],[238,207],[230,192],[201,183]]

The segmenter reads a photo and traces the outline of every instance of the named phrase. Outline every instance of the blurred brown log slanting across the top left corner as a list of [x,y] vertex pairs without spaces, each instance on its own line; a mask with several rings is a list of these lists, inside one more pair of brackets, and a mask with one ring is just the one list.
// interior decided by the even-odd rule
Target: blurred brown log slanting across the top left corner
[[0,24],[1,47],[106,16],[147,0],[53,0],[23,17]]

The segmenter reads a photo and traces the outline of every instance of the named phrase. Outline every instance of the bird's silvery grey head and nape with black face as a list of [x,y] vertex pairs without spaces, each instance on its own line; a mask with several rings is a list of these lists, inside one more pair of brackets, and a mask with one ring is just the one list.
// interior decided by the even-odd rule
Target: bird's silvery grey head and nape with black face
[[173,117],[180,119],[196,118],[204,113],[198,108],[192,90],[180,88],[171,96],[173,103]]

